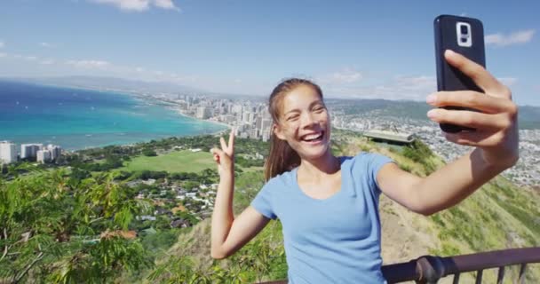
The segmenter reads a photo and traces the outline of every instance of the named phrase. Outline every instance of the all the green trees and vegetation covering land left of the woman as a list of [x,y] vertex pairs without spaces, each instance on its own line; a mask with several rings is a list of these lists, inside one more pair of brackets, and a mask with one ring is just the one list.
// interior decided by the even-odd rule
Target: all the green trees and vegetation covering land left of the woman
[[[209,168],[197,172],[118,169],[139,156],[157,159],[180,149],[206,150],[216,141],[212,136],[167,138],[83,150],[54,164],[4,167],[0,282],[154,279],[155,273],[147,274],[163,267],[155,267],[156,259],[208,215],[210,208],[204,211],[206,202],[196,197],[210,196],[210,188],[203,188],[217,182],[217,170],[210,156]],[[238,174],[261,164],[252,156],[265,153],[264,143],[238,139],[238,145]],[[179,192],[194,195],[178,200]]]

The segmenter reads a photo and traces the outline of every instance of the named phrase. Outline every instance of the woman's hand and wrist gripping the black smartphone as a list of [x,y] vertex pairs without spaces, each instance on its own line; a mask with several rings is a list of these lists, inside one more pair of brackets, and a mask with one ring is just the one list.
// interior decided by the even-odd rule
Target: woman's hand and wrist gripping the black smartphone
[[469,110],[434,108],[427,116],[438,123],[451,123],[475,131],[443,132],[447,140],[482,150],[485,162],[511,166],[519,158],[518,106],[512,92],[479,64],[454,52],[445,51],[449,65],[469,76],[484,93],[478,91],[438,91],[426,101],[432,106],[464,106]]

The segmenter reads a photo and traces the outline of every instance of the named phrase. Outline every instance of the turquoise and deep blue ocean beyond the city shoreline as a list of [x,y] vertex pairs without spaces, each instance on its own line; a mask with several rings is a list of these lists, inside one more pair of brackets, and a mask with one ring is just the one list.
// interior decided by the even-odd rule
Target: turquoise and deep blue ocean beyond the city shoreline
[[113,92],[0,81],[0,140],[75,150],[226,129],[157,103]]

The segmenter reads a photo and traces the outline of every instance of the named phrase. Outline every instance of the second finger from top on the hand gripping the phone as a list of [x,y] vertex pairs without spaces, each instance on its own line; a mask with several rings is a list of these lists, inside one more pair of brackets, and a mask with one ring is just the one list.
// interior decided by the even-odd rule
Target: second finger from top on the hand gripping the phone
[[476,91],[439,91],[429,95],[426,102],[432,106],[465,106],[487,114],[516,112],[509,99],[487,96]]

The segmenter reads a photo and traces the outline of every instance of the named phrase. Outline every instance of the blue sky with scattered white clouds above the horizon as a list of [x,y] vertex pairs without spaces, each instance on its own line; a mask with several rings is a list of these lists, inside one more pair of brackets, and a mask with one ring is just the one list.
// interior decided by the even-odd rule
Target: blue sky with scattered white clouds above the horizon
[[538,1],[2,0],[0,77],[99,75],[267,96],[300,76],[327,97],[424,100],[433,19],[480,19],[487,68],[540,106]]

